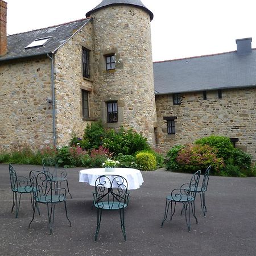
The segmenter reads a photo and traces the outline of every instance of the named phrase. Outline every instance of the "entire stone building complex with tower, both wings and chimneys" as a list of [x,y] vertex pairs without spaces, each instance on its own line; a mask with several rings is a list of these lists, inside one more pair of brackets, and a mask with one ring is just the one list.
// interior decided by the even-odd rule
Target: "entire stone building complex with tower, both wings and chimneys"
[[256,49],[152,63],[153,14],[103,0],[84,19],[7,36],[0,0],[0,150],[68,144],[87,123],[130,127],[167,152],[208,135],[256,159]]

